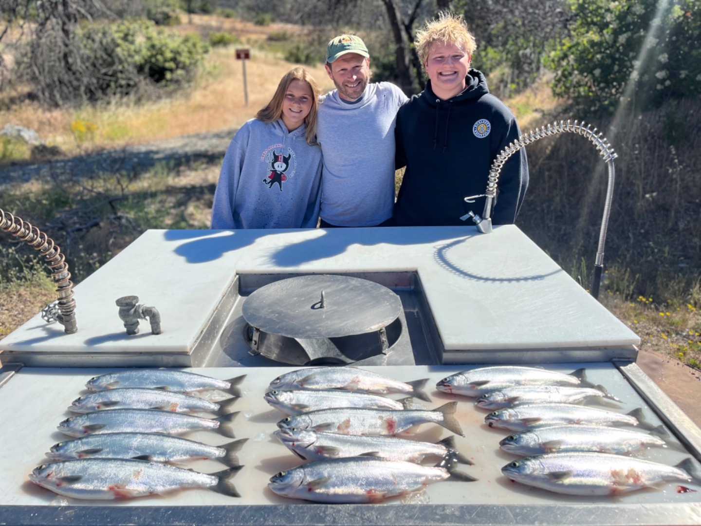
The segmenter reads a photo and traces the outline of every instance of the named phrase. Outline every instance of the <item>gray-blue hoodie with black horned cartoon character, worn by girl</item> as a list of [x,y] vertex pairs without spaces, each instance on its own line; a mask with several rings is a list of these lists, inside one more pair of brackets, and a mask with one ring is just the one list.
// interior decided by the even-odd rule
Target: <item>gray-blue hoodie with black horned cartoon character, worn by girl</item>
[[251,119],[226,150],[212,206],[212,229],[315,228],[321,149],[307,144],[303,124]]

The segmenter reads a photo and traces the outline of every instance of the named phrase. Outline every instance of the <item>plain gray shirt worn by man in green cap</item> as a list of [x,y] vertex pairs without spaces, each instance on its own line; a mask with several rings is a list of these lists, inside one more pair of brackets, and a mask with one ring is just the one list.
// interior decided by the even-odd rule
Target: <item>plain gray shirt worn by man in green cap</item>
[[388,82],[370,83],[347,104],[338,90],[322,97],[317,137],[324,152],[323,220],[338,227],[372,227],[392,217],[395,201],[395,118],[407,101]]

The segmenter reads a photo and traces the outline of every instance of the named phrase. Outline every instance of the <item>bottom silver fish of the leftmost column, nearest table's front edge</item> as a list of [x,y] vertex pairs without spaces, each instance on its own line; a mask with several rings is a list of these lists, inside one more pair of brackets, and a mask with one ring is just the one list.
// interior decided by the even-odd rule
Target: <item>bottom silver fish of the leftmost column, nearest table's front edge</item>
[[207,475],[143,460],[81,459],[43,464],[29,473],[29,480],[73,499],[130,499],[168,494],[184,487],[203,487],[240,497],[231,481],[240,468]]

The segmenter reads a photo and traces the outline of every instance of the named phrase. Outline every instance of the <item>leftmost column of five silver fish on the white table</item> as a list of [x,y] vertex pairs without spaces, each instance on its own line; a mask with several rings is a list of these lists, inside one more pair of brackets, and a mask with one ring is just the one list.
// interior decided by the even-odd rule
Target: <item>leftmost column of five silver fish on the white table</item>
[[[78,438],[51,447],[46,454],[51,462],[35,468],[29,479],[75,499],[126,499],[186,487],[239,497],[232,479],[241,468],[238,452],[247,439],[211,446],[177,435],[205,429],[233,438],[238,413],[231,407],[243,378],[222,381],[175,370],[126,370],[92,378],[86,386],[94,392],[69,407],[81,414],[58,427]],[[229,398],[215,403],[186,394],[213,390]],[[220,416],[184,414],[200,411]],[[193,459],[229,467],[207,474],[166,464]]]

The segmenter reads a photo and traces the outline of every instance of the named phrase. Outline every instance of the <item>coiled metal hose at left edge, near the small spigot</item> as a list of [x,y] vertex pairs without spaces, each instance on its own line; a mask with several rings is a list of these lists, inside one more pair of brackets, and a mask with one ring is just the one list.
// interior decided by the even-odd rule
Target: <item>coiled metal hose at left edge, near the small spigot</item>
[[39,250],[39,253],[46,259],[52,271],[51,277],[57,286],[59,313],[55,319],[64,326],[66,334],[77,332],[73,282],[71,281],[71,273],[68,271],[66,257],[61,253],[58,245],[55,245],[53,239],[32,224],[5,212],[2,208],[0,208],[0,230],[8,232],[20,241],[24,241],[29,246]]

